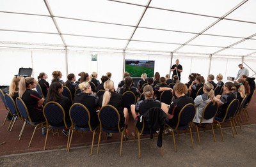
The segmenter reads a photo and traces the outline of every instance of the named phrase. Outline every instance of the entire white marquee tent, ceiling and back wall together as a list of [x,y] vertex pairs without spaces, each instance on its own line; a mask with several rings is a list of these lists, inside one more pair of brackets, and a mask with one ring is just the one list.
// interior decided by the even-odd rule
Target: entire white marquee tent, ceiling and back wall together
[[124,59],[154,60],[161,76],[180,59],[182,82],[193,72],[236,76],[240,63],[255,76],[255,9],[255,0],[1,0],[0,85],[23,67],[50,83],[54,70],[63,80],[110,71],[117,86]]

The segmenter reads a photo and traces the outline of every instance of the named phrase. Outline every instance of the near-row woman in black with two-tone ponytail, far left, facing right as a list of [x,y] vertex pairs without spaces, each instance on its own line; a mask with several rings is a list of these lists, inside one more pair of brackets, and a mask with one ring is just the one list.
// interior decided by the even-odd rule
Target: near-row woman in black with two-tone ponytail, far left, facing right
[[26,77],[21,78],[19,83],[19,97],[22,98],[28,108],[29,115],[33,122],[44,121],[44,114],[42,112],[42,105],[44,98],[33,91],[37,85],[35,78]]

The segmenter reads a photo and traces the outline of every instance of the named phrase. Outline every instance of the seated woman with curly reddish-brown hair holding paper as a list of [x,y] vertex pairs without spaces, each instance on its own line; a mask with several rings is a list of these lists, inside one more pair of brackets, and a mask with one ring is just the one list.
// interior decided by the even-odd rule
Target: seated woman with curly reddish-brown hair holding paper
[[[168,119],[166,119],[166,124],[172,127],[177,125],[179,113],[182,108],[189,103],[194,104],[192,98],[185,96],[188,88],[184,83],[176,83],[173,87],[173,91],[177,98],[172,101],[170,106],[166,105],[165,103],[162,103],[161,105],[161,109],[166,113],[166,116],[168,117]],[[180,124],[180,126],[185,125]]]

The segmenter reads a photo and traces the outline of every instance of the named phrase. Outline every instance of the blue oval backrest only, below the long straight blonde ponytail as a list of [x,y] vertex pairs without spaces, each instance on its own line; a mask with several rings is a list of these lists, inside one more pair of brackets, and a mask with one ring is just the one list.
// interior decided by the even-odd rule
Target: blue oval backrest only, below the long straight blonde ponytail
[[103,127],[104,129],[118,129],[120,132],[120,115],[116,108],[111,105],[105,105],[102,106],[99,110],[99,121],[100,121],[100,127]]

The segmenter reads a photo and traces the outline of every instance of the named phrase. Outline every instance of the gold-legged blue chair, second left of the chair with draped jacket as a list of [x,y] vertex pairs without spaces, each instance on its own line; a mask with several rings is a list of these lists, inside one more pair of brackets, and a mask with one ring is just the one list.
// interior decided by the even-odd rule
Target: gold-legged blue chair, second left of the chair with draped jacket
[[74,103],[74,105],[71,106],[71,108],[69,110],[69,115],[70,115],[72,126],[70,129],[71,134],[69,133],[71,136],[69,136],[70,142],[68,144],[68,152],[70,150],[70,145],[72,142],[72,136],[73,136],[74,131],[90,131],[93,133],[92,148],[91,148],[91,155],[92,155],[94,137],[95,137],[95,133],[97,132],[97,129],[99,129],[99,126],[91,125],[90,112],[84,105],[82,105],[80,103]]

